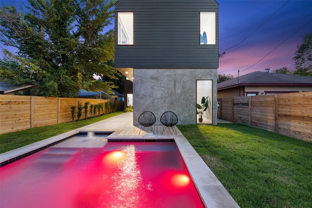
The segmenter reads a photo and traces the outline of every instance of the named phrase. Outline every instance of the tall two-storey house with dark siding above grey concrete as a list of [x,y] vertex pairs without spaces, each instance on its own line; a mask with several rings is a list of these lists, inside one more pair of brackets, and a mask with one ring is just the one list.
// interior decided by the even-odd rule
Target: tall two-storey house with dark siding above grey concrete
[[[218,3],[215,0],[118,0],[115,67],[133,82],[134,124],[144,111],[199,123],[196,103],[209,96],[204,122],[217,123]],[[130,86],[129,86],[130,87]]]

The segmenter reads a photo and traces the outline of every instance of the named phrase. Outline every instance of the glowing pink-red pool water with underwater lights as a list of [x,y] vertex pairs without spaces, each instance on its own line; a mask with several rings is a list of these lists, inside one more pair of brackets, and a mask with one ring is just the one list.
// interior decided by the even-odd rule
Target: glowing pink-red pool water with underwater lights
[[1,167],[0,207],[204,206],[174,142],[78,135]]

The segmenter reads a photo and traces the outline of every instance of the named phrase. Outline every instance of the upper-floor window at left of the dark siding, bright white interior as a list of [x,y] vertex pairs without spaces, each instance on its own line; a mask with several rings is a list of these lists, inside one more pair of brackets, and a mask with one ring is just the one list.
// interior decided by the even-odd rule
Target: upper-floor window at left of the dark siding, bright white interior
[[133,45],[133,12],[118,12],[118,45]]

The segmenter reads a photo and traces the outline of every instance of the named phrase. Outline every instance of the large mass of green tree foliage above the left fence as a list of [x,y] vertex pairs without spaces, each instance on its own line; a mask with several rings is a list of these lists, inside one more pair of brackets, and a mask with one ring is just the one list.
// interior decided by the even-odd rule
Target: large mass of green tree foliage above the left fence
[[19,49],[5,51],[0,78],[39,85],[41,96],[76,96],[79,89],[109,92],[117,79],[114,31],[105,30],[114,0],[28,0],[27,12],[14,5],[0,10],[0,41]]

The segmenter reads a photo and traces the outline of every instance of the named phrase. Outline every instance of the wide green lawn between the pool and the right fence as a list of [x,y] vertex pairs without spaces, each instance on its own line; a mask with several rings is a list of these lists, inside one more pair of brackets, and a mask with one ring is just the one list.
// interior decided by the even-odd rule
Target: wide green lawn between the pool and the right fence
[[312,205],[312,142],[240,124],[178,129],[241,208]]

